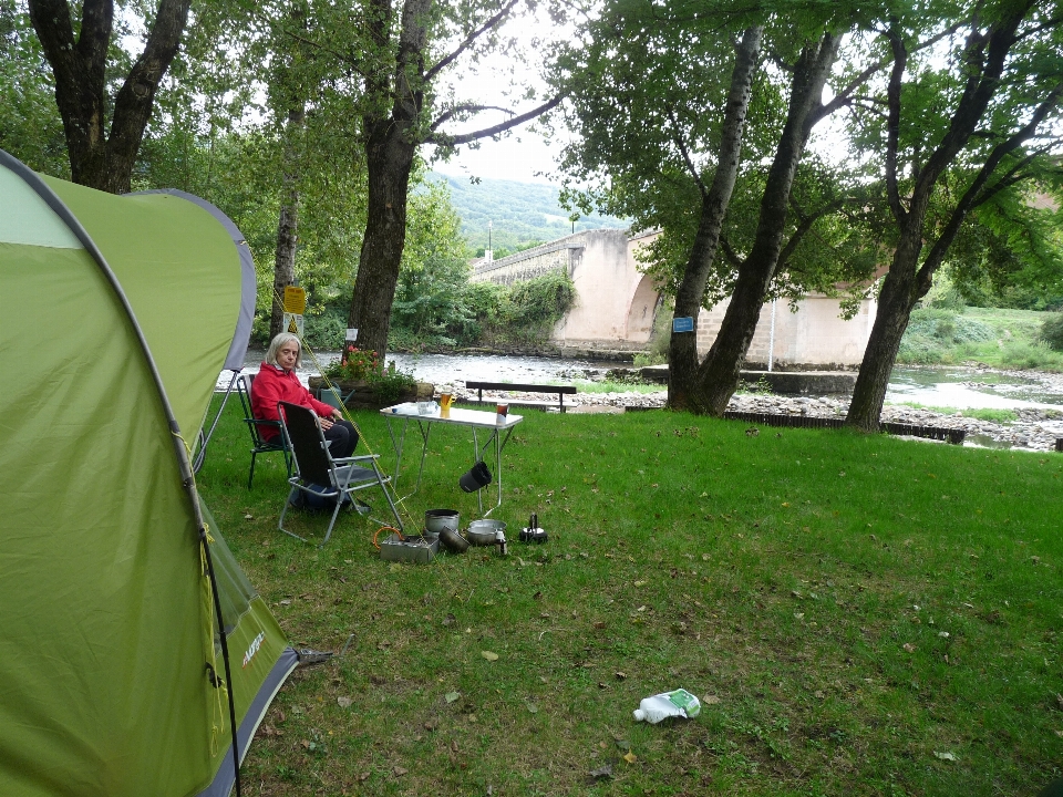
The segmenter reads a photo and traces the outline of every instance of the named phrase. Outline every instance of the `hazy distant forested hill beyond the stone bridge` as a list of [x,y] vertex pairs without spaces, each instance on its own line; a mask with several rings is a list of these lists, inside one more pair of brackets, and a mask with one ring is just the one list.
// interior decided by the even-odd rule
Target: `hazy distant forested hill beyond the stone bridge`
[[[558,201],[556,186],[544,183],[451,177],[433,172],[433,180],[445,182],[451,201],[462,217],[462,232],[473,249],[487,246],[487,221],[492,222],[491,241],[499,249],[517,251],[532,242],[545,242],[570,235],[569,213]],[[576,221],[576,230],[622,228],[627,222],[609,216],[587,216]]]

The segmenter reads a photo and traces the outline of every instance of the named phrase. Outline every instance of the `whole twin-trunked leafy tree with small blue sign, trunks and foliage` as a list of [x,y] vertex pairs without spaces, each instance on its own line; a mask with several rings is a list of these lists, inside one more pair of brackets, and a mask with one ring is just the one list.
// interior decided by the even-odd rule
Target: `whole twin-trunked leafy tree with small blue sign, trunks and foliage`
[[[674,253],[681,241],[679,273],[660,280],[675,292],[675,317],[691,317],[696,327],[701,309],[721,298],[721,283],[730,288],[723,328],[704,361],[694,334],[671,338],[673,407],[721,414],[764,301],[773,291],[816,282],[807,269],[789,269],[782,281],[776,270],[781,262],[795,266],[802,240],[845,204],[827,192],[824,198],[834,196],[825,203],[791,210],[813,125],[875,71],[847,75],[830,102],[822,102],[850,15],[844,4],[809,11],[794,3],[772,12],[729,2],[611,2],[588,25],[590,41],[558,64],[559,84],[575,86],[571,121],[584,134],[568,148],[565,167],[579,182],[608,184],[598,198],[612,213],[663,229],[651,255],[670,247]],[[762,31],[772,63],[756,73]],[[752,121],[743,135],[747,110]],[[743,148],[749,154],[740,159]],[[746,200],[756,196],[737,219],[727,217],[734,186]],[[695,215],[696,224],[687,220]],[[736,230],[750,217],[755,231],[742,246]],[[858,263],[865,269],[866,259]]]

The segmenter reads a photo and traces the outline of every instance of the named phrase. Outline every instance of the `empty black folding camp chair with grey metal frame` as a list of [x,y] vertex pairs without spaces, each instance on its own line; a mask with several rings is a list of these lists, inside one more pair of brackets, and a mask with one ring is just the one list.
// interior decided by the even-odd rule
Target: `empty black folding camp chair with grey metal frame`
[[[296,474],[288,479],[291,485],[291,491],[285,499],[285,508],[280,513],[280,520],[277,528],[286,535],[307,541],[285,528],[285,515],[288,513],[288,506],[291,499],[300,491],[307,493],[318,498],[323,498],[336,504],[332,510],[332,519],[329,521],[329,528],[324,532],[324,540],[319,547],[324,547],[332,536],[332,527],[336,525],[336,518],[340,514],[340,507],[349,504],[354,508],[352,493],[369,489],[370,487],[380,487],[391,507],[391,514],[395,518],[395,528],[401,532],[403,530],[402,519],[395,509],[395,503],[388,491],[390,476],[384,476],[376,465],[379,454],[363,454],[361,456],[342,457],[333,459],[329,453],[329,443],[324,439],[324,433],[321,432],[321,425],[318,423],[318,416],[312,410],[298,404],[279,402],[277,404],[280,413],[280,421],[283,425],[285,435],[291,444],[291,455],[296,463]],[[357,463],[365,463],[369,467],[361,467]],[[365,505],[359,507],[359,511],[368,514],[371,511]],[[391,526],[391,521],[383,521],[376,518],[381,526]]]

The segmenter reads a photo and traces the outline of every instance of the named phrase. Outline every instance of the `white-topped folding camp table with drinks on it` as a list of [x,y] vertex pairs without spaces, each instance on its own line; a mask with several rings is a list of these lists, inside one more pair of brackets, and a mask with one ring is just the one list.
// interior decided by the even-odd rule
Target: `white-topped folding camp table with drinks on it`
[[[475,462],[483,462],[484,453],[494,445],[495,451],[495,482],[498,483],[498,503],[486,513],[484,511],[483,491],[476,490],[476,498],[479,501],[479,511],[486,517],[495,509],[502,506],[502,451],[509,442],[513,434],[513,427],[524,421],[523,415],[505,415],[502,423],[498,422],[498,415],[483,410],[458,410],[451,407],[444,412],[435,407],[430,413],[417,412],[416,402],[406,404],[395,404],[384,407],[380,411],[381,415],[388,421],[388,434],[391,435],[391,444],[395,449],[395,475],[391,479],[392,489],[398,491],[395,485],[399,482],[399,468],[402,466],[402,446],[406,438],[406,428],[411,422],[416,423],[417,431],[421,433],[421,464],[417,468],[417,483],[413,490],[399,500],[409,498],[421,488],[421,476],[424,474],[424,457],[429,452],[429,437],[432,434],[434,424],[451,424],[454,426],[466,426],[473,431],[473,455]],[[395,436],[393,424],[402,423],[399,436]],[[479,444],[479,433],[486,432],[487,439],[483,445]]]

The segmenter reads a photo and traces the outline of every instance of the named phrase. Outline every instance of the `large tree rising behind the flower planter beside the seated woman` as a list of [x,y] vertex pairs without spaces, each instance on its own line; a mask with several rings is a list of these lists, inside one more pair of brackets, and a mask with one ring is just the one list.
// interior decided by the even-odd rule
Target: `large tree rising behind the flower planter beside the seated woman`
[[443,96],[440,83],[463,56],[498,45],[520,0],[369,0],[363,24],[367,58],[352,62],[363,77],[362,135],[369,178],[362,239],[348,325],[363,349],[388,348],[391,306],[406,236],[410,175],[424,144],[454,147],[497,136],[555,107],[559,97],[482,130],[453,134],[447,125],[491,108]]

